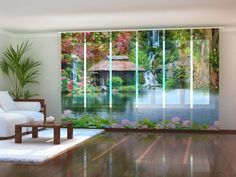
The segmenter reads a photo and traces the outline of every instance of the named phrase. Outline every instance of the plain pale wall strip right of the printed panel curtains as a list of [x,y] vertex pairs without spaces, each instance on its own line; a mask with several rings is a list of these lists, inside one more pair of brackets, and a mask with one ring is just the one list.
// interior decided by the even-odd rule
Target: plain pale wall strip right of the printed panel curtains
[[236,130],[236,28],[220,30],[220,124]]

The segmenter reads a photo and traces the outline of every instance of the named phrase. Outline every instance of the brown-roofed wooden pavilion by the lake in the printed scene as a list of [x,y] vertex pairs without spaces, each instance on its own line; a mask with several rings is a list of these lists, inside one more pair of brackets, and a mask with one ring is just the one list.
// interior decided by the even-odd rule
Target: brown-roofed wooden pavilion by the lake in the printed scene
[[[99,63],[93,65],[88,69],[88,72],[98,73],[100,84],[106,85],[109,80],[109,56]],[[121,78],[135,79],[136,65],[129,60],[127,56],[117,55],[112,56],[112,76],[119,76]],[[144,72],[145,69],[141,66],[138,68],[139,72]]]

